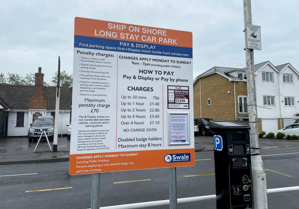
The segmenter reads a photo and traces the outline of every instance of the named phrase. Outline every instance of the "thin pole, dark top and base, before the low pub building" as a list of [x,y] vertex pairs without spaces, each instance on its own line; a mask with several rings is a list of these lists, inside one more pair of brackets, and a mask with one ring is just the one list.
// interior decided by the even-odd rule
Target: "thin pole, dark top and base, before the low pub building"
[[57,152],[58,144],[58,118],[59,118],[59,92],[60,92],[60,56],[58,56],[58,74],[57,74],[57,91],[56,91],[56,105],[55,105],[55,126],[53,139],[53,152]]

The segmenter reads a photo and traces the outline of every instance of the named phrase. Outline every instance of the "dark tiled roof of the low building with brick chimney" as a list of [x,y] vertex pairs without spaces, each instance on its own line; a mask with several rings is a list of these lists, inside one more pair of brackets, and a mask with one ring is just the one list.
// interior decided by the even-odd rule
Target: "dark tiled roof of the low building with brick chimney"
[[[0,103],[7,109],[29,109],[29,99],[34,94],[34,86],[0,84]],[[44,88],[43,95],[47,98],[47,109],[53,110],[56,105],[56,86]],[[72,90],[60,87],[59,109],[70,110]]]

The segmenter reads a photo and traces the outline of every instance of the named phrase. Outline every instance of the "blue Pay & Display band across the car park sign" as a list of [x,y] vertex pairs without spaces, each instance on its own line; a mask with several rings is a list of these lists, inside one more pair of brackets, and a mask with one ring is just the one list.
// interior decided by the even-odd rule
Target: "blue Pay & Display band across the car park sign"
[[75,35],[74,39],[75,48],[192,58],[192,48],[188,47],[103,39],[81,35]]

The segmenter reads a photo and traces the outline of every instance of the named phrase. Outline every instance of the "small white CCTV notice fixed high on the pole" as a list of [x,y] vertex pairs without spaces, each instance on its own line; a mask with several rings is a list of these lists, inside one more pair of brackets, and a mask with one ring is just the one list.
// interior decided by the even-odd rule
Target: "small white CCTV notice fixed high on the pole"
[[246,24],[246,49],[261,50],[261,26]]

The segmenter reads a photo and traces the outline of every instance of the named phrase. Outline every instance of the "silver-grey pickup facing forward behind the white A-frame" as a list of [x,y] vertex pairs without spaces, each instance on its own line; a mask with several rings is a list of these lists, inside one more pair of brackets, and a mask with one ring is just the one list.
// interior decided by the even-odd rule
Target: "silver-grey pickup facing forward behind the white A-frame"
[[[28,142],[36,142],[43,131],[47,134],[48,139],[53,141],[54,122],[53,116],[38,116],[37,119],[30,124],[31,127],[28,130]],[[42,135],[42,139],[45,138],[45,135]]]

